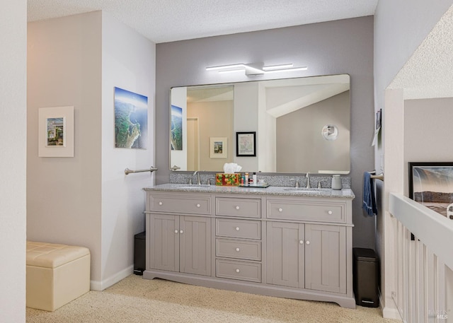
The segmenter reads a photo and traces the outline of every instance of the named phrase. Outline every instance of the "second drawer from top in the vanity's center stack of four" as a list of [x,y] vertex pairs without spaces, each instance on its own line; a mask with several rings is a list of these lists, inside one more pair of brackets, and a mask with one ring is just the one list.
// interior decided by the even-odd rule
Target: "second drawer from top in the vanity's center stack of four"
[[215,221],[215,231],[219,237],[242,237],[245,239],[260,240],[261,222],[218,218]]

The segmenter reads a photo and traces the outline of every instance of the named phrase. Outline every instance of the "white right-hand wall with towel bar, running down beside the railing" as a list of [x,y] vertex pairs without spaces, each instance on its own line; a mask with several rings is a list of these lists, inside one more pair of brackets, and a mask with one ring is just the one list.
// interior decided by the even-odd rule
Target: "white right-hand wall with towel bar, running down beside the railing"
[[382,144],[376,147],[374,161],[375,169],[383,169],[385,173],[384,187],[379,185],[377,192],[382,196],[379,207],[384,212],[377,218],[376,235],[377,252],[381,259],[384,317],[398,317],[392,300],[392,293],[396,290],[396,255],[392,236],[394,221],[386,210],[386,204],[389,192],[403,193],[403,151],[406,149],[403,141],[403,90],[386,88],[452,3],[452,0],[415,0],[408,5],[403,0],[381,0],[374,14],[374,109],[383,110],[384,120]]

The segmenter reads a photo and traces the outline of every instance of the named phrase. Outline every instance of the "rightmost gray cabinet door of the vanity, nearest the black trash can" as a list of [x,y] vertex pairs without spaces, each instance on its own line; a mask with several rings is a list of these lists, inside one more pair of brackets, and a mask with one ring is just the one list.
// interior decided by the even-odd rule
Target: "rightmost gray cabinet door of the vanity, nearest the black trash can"
[[305,225],[305,288],[346,293],[346,230]]

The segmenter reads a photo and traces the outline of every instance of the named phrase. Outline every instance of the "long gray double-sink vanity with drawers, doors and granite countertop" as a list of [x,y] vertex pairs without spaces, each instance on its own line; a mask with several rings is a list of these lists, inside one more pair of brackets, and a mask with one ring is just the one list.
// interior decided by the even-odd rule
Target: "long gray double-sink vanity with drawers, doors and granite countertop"
[[144,278],[355,308],[350,189],[144,190]]

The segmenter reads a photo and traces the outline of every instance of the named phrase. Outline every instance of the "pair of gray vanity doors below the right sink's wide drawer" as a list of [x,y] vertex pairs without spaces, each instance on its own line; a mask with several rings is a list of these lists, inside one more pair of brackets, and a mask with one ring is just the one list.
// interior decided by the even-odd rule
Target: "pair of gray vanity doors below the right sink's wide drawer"
[[268,283],[346,293],[345,228],[268,223]]

